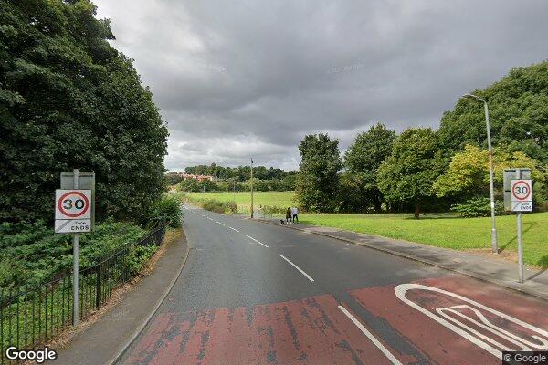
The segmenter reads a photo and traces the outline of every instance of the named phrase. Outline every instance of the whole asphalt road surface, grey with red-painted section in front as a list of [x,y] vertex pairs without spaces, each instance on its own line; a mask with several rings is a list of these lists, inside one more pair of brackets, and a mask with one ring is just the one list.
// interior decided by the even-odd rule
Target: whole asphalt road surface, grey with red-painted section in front
[[546,302],[362,246],[186,209],[181,276],[123,364],[500,364]]

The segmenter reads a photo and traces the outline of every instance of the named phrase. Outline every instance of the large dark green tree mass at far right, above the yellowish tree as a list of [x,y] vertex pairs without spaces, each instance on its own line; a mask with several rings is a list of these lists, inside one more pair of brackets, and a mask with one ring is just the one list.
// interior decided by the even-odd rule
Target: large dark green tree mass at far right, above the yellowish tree
[[[488,100],[494,146],[522,151],[544,165],[548,163],[548,61],[512,68],[505,78],[473,93]],[[458,99],[455,109],[441,119],[439,137],[449,154],[466,144],[485,149],[483,105],[473,99]]]

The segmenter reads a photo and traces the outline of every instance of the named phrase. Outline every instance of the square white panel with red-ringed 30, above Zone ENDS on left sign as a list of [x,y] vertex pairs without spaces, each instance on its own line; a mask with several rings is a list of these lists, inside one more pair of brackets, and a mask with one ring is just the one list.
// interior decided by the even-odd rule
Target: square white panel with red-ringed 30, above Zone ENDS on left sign
[[90,190],[56,190],[55,219],[90,219]]

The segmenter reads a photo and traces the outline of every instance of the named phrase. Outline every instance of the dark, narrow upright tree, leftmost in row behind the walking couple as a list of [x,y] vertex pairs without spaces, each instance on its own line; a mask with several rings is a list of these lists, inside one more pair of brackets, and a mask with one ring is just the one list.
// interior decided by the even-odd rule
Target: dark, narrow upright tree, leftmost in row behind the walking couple
[[332,141],[327,134],[307,135],[300,141],[299,151],[296,190],[300,207],[311,212],[335,211],[342,169],[339,140]]

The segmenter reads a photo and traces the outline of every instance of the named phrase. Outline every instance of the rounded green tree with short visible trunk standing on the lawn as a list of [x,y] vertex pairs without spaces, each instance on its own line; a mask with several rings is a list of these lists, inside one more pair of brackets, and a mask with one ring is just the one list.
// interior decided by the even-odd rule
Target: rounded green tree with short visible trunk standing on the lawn
[[388,202],[413,203],[418,219],[421,203],[434,196],[432,184],[442,167],[436,133],[410,128],[395,140],[392,153],[378,169],[377,183]]

